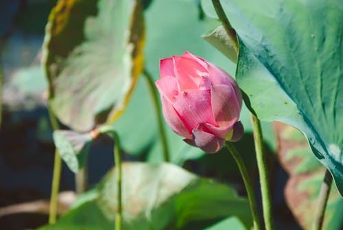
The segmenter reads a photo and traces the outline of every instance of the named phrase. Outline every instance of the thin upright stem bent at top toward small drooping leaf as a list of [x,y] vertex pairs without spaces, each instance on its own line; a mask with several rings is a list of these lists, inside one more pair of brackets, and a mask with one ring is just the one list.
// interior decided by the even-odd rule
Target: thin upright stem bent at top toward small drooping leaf
[[116,180],[117,180],[117,212],[115,214],[115,230],[121,230],[121,213],[122,213],[122,204],[121,204],[121,157],[120,157],[120,141],[119,136],[115,131],[111,131],[113,139],[115,139],[115,165],[116,165]]

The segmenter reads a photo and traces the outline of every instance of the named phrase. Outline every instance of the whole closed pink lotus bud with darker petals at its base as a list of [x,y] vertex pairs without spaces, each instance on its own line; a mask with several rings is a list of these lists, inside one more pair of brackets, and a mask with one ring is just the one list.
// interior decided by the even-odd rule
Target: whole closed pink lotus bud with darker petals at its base
[[241,138],[241,92],[228,73],[188,51],[161,60],[160,68],[155,84],[175,133],[209,153]]

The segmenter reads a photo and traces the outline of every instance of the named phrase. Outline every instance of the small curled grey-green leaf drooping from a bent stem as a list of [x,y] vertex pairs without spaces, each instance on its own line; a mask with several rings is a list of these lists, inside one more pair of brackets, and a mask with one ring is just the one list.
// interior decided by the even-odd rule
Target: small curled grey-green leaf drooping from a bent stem
[[68,168],[74,173],[84,167],[93,137],[90,133],[80,134],[70,130],[54,131],[54,143]]

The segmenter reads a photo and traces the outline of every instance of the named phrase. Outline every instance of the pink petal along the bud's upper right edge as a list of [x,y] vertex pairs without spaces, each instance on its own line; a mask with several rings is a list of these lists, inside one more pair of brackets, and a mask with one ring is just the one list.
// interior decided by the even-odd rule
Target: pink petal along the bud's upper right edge
[[226,73],[226,71],[220,69],[220,67],[216,67],[211,62],[207,62],[208,69],[209,69],[209,78],[211,80],[211,83],[213,85],[217,84],[226,84],[226,85],[232,85],[235,89],[235,95],[237,98],[239,98],[239,103],[241,106],[241,91],[239,90],[239,87],[237,83],[235,82],[235,79],[230,76],[230,74]]

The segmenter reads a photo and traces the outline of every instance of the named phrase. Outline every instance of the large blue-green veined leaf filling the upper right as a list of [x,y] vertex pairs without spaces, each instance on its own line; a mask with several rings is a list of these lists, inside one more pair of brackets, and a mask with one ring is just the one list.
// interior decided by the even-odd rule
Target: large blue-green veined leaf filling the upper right
[[239,35],[236,78],[251,111],[302,130],[343,194],[342,1],[222,4]]

